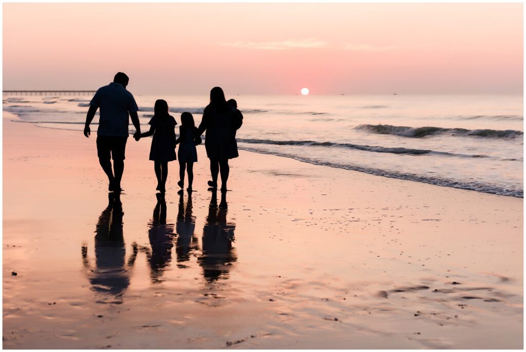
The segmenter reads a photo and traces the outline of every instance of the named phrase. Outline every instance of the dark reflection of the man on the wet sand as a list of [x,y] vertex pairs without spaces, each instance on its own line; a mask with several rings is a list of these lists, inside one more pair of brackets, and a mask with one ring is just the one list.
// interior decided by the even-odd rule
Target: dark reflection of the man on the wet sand
[[95,267],[88,258],[87,245],[82,247],[84,267],[96,292],[122,297],[129,286],[129,270],[135,263],[137,245],[126,263],[123,237],[123,207],[118,193],[109,193],[109,203],[99,216],[95,229]]

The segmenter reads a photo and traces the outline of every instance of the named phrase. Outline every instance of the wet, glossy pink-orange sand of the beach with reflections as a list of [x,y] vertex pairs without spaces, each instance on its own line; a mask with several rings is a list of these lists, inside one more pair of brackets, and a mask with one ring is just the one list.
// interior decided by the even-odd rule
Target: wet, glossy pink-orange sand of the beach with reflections
[[240,151],[225,211],[200,146],[165,204],[130,138],[119,201],[95,132],[11,120],[4,348],[523,347],[522,199]]

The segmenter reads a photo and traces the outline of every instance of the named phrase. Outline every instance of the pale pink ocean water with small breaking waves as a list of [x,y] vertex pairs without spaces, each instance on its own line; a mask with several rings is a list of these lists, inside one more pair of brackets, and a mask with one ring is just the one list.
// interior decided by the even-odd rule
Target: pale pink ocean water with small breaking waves
[[[38,127],[82,131],[90,98],[4,95],[3,110]],[[189,111],[196,124],[208,102],[205,95],[135,98],[143,130],[156,99],[168,101],[179,123]],[[522,96],[227,98],[235,98],[244,115],[240,149],[325,165],[328,172],[342,168],[523,197]]]

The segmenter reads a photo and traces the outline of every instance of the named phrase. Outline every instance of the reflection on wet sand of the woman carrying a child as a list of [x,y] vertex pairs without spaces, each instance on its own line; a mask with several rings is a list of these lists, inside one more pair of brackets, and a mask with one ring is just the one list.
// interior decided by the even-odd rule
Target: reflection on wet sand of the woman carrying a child
[[[221,203],[223,202],[226,203],[226,193],[221,194]],[[225,208],[218,208],[217,192],[214,191],[203,229],[203,255],[199,258],[199,265],[208,282],[228,278],[230,265],[237,261],[232,247],[236,224],[227,223],[226,215]]]

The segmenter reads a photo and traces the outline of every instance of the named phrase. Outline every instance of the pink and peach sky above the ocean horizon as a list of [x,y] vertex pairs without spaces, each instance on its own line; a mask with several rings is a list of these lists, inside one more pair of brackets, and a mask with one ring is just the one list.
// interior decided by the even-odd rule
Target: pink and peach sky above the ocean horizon
[[3,4],[4,89],[522,94],[522,4]]

